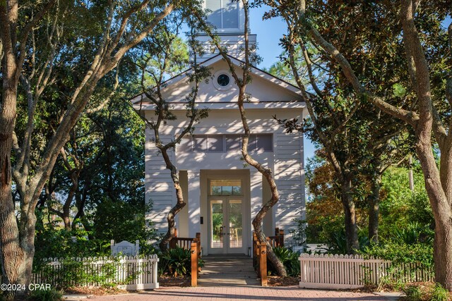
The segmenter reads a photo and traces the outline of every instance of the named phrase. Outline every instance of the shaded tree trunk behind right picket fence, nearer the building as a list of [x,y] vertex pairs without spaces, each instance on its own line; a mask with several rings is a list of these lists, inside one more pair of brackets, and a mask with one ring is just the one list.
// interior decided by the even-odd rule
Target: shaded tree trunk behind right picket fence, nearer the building
[[359,250],[358,228],[356,224],[355,202],[351,195],[352,181],[344,177],[344,183],[341,186],[342,204],[345,213],[345,239],[347,240],[347,253],[354,254]]

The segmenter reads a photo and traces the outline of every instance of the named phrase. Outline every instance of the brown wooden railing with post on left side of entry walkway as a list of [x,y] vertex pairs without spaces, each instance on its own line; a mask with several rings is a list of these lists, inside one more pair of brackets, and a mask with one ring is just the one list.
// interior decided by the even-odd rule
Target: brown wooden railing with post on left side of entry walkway
[[182,247],[183,249],[190,250],[191,286],[197,286],[199,272],[201,271],[201,268],[198,266],[199,259],[201,258],[201,233],[196,233],[195,238],[178,238],[176,229],[174,238],[169,241],[169,249],[175,249],[176,247]]

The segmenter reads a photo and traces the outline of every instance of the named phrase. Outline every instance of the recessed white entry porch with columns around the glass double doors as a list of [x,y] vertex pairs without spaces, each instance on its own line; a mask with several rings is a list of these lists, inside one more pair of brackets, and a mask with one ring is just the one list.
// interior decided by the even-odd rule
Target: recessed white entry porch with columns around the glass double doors
[[[203,255],[244,254],[251,256],[251,221],[270,198],[261,173],[244,169],[201,169],[179,171],[185,202],[177,215],[181,237],[201,233]],[[273,235],[274,212],[263,221],[267,235]]]

